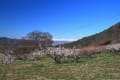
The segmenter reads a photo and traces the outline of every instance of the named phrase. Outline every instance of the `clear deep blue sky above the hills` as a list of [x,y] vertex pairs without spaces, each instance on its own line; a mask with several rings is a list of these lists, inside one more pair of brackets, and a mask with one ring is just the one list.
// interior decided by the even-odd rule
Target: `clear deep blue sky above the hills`
[[76,40],[120,21],[120,0],[0,0],[0,37],[39,30]]

